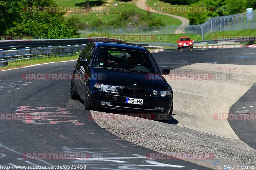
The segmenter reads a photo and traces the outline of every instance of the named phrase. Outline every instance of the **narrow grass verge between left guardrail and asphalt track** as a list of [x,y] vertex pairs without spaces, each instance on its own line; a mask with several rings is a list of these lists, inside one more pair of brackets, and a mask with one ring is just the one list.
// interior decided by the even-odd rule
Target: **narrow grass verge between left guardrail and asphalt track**
[[42,63],[58,62],[58,61],[68,61],[68,60],[76,60],[76,59],[78,59],[78,54],[71,55],[71,56],[64,56],[64,57],[51,56],[51,57],[42,57],[42,58],[32,58],[32,59],[28,59],[28,60],[16,60],[16,61],[9,62],[8,65],[5,67],[0,67],[0,70],[25,67],[25,66],[30,66],[30,65],[34,65],[34,64],[42,64]]

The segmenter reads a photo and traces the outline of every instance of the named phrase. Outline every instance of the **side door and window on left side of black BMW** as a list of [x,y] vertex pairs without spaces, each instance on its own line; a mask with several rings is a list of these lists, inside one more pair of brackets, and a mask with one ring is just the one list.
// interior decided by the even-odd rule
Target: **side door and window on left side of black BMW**
[[87,53],[90,51],[90,49],[92,48],[93,44],[89,44],[88,46],[84,47],[84,49],[81,51],[80,55],[79,55],[79,59],[77,60],[77,90],[78,92],[84,96],[84,67],[80,66],[80,61],[81,60],[86,60],[86,55]]

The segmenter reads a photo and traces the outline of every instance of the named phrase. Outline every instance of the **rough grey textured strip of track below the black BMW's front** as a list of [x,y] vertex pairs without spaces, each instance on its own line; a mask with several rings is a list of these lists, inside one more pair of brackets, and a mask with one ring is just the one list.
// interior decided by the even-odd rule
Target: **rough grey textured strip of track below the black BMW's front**
[[[99,114],[102,114],[99,118]],[[212,154],[211,159],[183,159],[218,169],[218,165],[255,165],[256,152],[240,139],[223,138],[185,127],[142,118],[103,120],[116,114],[91,111],[92,118],[110,133],[156,152]],[[130,116],[127,116],[130,117]],[[172,159],[172,158],[171,158]]]

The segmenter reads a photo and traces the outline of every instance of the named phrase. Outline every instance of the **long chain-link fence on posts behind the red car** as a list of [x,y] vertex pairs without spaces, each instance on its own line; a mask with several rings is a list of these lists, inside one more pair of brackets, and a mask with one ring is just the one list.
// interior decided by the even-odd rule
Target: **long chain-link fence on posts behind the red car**
[[164,35],[164,34],[204,34],[217,31],[240,31],[254,29],[256,11],[209,18],[200,25],[158,26],[158,27],[88,27],[80,30],[85,35]]

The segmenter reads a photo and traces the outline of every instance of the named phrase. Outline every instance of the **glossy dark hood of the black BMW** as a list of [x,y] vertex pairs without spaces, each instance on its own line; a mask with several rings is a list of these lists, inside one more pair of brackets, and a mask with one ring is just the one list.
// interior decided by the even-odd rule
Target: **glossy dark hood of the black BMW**
[[94,85],[95,83],[101,83],[122,88],[134,87],[133,84],[137,84],[136,88],[141,89],[169,89],[167,81],[159,74],[112,70],[107,68],[92,68],[91,71],[93,75],[98,77],[95,79],[95,76],[94,78],[92,76],[90,80],[91,85]]

